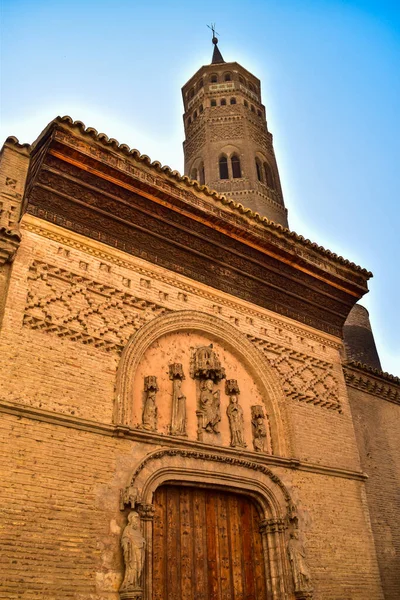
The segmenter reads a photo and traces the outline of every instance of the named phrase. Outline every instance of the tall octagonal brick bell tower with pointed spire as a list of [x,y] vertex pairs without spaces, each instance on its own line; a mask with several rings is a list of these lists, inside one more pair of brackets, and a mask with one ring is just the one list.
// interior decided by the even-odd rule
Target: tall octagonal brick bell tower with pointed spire
[[185,175],[288,227],[260,80],[212,42],[211,64],[182,88]]

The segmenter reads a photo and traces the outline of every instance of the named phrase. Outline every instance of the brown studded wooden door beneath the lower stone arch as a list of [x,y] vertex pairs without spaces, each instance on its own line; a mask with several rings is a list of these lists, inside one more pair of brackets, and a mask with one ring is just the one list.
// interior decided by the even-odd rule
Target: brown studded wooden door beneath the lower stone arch
[[152,600],[267,600],[256,506],[207,488],[157,489]]

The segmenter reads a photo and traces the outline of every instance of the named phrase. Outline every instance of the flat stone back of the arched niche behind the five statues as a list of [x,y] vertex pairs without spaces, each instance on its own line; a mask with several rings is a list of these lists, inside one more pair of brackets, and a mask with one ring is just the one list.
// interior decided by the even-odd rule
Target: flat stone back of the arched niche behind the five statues
[[[199,381],[193,376],[193,355],[201,347],[209,347],[212,344],[212,351],[225,370],[226,378],[217,378],[213,382],[212,393],[219,396],[219,410],[221,420],[217,426],[217,432],[207,433],[203,439],[199,436],[199,403],[200,392],[204,382]],[[243,439],[245,448],[253,451],[256,447],[253,444],[254,437],[254,407],[262,407],[265,415],[265,439],[263,443],[263,452],[272,453],[272,443],[268,420],[268,402],[264,402],[263,396],[258,385],[240,360],[232,352],[226,350],[220,343],[211,339],[207,335],[197,332],[173,332],[166,334],[154,341],[143,354],[133,378],[133,414],[132,423],[135,427],[146,429],[143,425],[143,410],[146,404],[146,391],[149,377],[156,378],[156,408],[157,419],[154,432],[163,435],[173,435],[172,415],[173,415],[173,395],[174,381],[171,377],[170,365],[175,365],[175,373],[180,378],[179,393],[184,396],[186,426],[185,434],[180,435],[188,440],[200,440],[206,443],[216,444],[225,447],[231,447],[232,434],[230,421],[227,414],[227,408],[230,404],[229,383],[236,380],[239,393],[237,395],[238,404],[243,413]],[[177,371],[176,365],[182,365],[182,369]],[[154,381],[154,380],[153,380]],[[218,393],[219,392],[219,393]],[[252,412],[253,407],[253,412]],[[176,435],[176,434],[175,434]],[[240,450],[240,448],[237,448]],[[258,451],[260,451],[258,449]]]

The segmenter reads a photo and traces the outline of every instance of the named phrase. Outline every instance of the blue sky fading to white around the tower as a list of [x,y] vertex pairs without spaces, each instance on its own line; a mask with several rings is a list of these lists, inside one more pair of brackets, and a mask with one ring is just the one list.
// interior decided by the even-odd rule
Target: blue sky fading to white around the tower
[[0,137],[69,114],[183,171],[181,86],[212,55],[262,82],[291,229],[374,273],[400,375],[400,0],[3,0]]

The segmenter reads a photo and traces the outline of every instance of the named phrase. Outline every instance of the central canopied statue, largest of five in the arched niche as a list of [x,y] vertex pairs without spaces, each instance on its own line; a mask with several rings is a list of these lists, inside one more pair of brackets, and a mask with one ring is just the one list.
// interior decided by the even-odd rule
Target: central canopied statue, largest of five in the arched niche
[[[220,391],[215,384],[225,379],[225,369],[210,346],[201,346],[192,354],[190,374],[198,382],[197,438],[204,441],[204,434],[214,436],[219,433],[221,421]],[[210,441],[210,440],[208,440]]]

